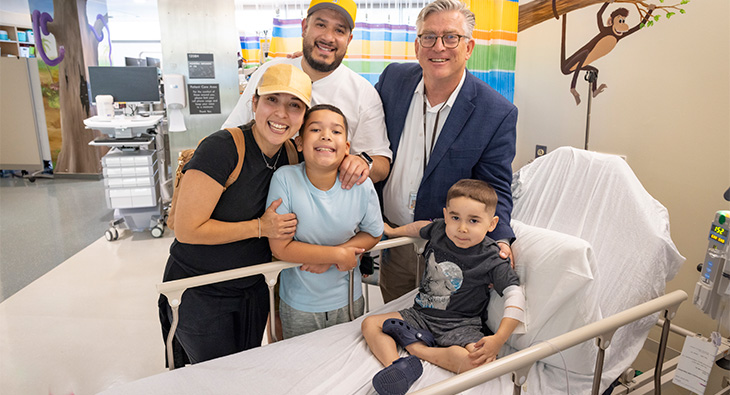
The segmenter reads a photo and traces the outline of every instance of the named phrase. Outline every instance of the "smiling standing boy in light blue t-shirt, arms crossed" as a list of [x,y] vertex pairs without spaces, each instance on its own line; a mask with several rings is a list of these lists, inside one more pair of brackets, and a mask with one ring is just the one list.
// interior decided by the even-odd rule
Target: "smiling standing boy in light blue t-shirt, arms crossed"
[[269,240],[278,259],[302,263],[281,272],[279,313],[284,338],[312,332],[349,318],[349,270],[354,269],[355,315],[364,311],[359,255],[383,233],[373,182],[343,189],[340,163],[350,151],[347,119],[331,105],[307,111],[296,138],[304,162],[274,173],[267,205],[281,198],[277,213],[297,215],[292,239]]

